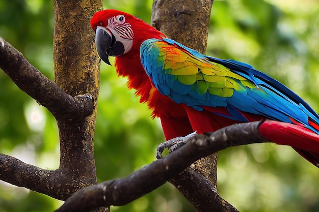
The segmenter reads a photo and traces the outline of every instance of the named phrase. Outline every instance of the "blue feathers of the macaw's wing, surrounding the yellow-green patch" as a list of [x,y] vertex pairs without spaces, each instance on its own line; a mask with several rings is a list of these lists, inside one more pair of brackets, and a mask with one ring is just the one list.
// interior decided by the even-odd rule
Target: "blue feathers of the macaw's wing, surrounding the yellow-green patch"
[[[176,75],[169,74],[171,70],[164,69],[165,61],[157,61],[160,48],[156,46],[158,41],[165,41],[167,45],[174,45],[176,48],[183,49],[184,52],[188,52],[189,55],[203,63],[220,64],[228,68],[232,73],[244,77],[256,85],[256,88],[246,87],[240,91],[234,90],[233,95],[230,97],[212,95],[208,91],[200,95],[195,84],[186,85],[179,82],[176,80]],[[230,116],[219,115],[235,119],[238,122],[247,122],[247,119],[240,111],[263,115],[267,118],[287,123],[291,123],[291,117],[304,124],[307,128],[319,133],[308,122],[308,119],[311,119],[312,122],[319,125],[319,115],[304,100],[285,85],[255,70],[248,64],[231,59],[209,57],[167,38],[144,41],[141,45],[140,54],[142,65],[154,86],[161,94],[169,96],[176,103],[184,103],[199,111],[203,110],[203,106],[225,107]],[[240,80],[233,80],[241,85]]]

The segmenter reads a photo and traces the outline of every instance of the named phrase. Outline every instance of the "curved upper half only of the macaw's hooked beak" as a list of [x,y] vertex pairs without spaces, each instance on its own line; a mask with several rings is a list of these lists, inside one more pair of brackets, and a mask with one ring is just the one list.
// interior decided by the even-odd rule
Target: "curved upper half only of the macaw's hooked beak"
[[107,50],[114,45],[115,38],[113,35],[110,35],[105,28],[101,26],[97,26],[95,32],[95,45],[96,50],[99,57],[104,61],[104,63],[111,65],[109,60],[109,55],[107,54]]

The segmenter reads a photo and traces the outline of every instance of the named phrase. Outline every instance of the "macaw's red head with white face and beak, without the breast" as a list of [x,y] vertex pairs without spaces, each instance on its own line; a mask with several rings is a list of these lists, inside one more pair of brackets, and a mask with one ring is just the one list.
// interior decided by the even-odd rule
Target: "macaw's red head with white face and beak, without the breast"
[[108,56],[120,56],[130,50],[140,50],[149,38],[166,37],[139,18],[118,10],[102,10],[91,19],[96,32],[96,49],[101,59],[110,65]]

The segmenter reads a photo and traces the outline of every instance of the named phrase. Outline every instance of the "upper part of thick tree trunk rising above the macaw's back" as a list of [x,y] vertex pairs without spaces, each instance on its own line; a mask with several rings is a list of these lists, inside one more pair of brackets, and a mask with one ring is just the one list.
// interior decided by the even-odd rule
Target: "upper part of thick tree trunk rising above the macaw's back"
[[214,0],[154,0],[151,25],[169,38],[204,53]]

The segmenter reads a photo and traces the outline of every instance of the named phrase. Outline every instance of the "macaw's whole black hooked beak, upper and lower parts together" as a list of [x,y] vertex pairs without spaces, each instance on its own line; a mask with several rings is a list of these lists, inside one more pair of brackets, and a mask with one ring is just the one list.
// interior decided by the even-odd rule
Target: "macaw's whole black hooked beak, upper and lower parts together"
[[95,32],[95,45],[100,58],[109,65],[109,56],[119,56],[125,52],[124,45],[117,41],[111,32],[99,26]]

